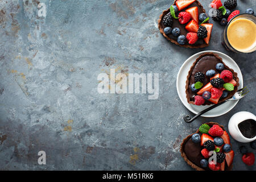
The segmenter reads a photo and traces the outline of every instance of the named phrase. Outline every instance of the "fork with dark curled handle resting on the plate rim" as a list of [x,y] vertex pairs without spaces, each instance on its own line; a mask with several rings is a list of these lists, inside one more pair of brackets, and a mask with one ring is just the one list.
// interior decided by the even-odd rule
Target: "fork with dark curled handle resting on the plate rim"
[[245,97],[247,95],[247,93],[249,93],[250,91],[247,89],[247,87],[242,88],[240,90],[237,90],[237,92],[234,94],[234,96],[232,98],[229,98],[228,100],[225,100],[224,102],[220,102],[218,104],[215,104],[211,107],[208,107],[207,109],[201,111],[200,113],[196,114],[193,118],[191,118],[189,115],[185,115],[184,116],[184,121],[186,123],[191,123],[193,122],[196,118],[200,117],[200,115],[208,112],[209,110],[212,110],[215,107],[218,107],[222,104],[224,104],[227,101],[236,101],[236,100],[240,100],[241,98]]

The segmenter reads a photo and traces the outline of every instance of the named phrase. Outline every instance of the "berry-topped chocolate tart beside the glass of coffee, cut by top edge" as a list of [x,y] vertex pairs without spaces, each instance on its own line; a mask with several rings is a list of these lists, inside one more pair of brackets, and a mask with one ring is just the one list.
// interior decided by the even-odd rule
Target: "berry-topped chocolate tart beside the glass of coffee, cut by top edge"
[[209,46],[213,27],[208,19],[199,1],[175,0],[174,5],[160,15],[158,28],[176,45],[203,48]]

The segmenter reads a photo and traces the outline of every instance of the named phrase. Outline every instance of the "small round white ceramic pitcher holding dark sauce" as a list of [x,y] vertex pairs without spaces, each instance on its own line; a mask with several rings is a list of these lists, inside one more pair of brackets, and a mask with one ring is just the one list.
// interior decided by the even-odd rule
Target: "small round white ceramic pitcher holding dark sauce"
[[249,113],[247,111],[238,112],[229,119],[229,133],[232,138],[237,140],[238,142],[248,143],[256,139],[256,136],[254,138],[244,137],[240,129],[238,128],[238,124],[247,119],[253,119],[256,122],[256,116],[253,113]]

